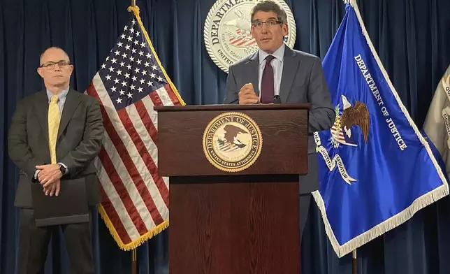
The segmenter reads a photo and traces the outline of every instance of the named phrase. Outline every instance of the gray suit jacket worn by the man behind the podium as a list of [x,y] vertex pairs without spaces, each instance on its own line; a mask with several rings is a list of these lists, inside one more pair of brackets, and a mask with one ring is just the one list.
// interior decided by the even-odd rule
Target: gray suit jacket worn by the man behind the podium
[[[228,68],[224,103],[239,103],[240,88],[249,82],[253,84],[256,95],[259,95],[258,68],[258,52]],[[330,92],[319,57],[285,46],[280,99],[282,103],[311,103],[308,123],[309,173],[300,176],[300,193],[313,192],[319,188],[319,178],[316,144],[312,134],[315,131],[330,129],[335,120]]]

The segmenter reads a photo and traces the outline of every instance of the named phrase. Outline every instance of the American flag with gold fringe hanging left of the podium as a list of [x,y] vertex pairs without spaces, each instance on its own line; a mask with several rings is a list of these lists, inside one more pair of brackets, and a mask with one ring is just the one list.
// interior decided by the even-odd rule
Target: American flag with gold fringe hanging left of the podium
[[87,94],[101,106],[106,134],[96,158],[99,212],[130,250],[168,226],[168,178],[158,176],[157,112],[183,105],[136,13],[94,75]]

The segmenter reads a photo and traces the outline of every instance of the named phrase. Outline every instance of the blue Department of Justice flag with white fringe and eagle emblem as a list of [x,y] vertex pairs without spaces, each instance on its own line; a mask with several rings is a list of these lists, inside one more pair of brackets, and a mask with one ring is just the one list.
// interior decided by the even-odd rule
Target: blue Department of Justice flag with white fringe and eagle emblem
[[313,193],[338,257],[449,193],[430,145],[395,91],[354,1],[324,58],[336,118],[316,132]]

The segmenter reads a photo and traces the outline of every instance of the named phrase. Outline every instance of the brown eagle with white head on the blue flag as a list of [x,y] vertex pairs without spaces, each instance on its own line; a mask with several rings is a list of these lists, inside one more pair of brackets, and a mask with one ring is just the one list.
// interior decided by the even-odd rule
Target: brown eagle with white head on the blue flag
[[351,127],[358,126],[363,131],[365,143],[368,141],[369,135],[369,110],[361,101],[356,101],[355,106],[351,106],[347,98],[342,95],[343,112],[340,117],[341,129],[347,136],[351,137]]

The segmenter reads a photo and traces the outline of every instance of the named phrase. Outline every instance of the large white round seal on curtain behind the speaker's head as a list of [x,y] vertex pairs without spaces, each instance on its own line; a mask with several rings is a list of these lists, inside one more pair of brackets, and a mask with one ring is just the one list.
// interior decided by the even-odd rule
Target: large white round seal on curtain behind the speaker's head
[[[211,59],[222,71],[258,50],[250,34],[252,8],[262,0],[217,0],[205,20],[203,38]],[[293,48],[296,43],[296,22],[284,0],[276,0],[287,15],[288,35],[284,43]]]

